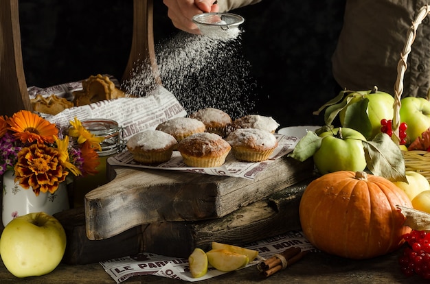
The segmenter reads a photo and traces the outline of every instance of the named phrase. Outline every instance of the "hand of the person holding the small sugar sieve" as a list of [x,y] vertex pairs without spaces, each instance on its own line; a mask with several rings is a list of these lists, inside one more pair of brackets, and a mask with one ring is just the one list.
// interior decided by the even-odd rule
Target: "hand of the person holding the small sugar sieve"
[[199,28],[192,22],[192,17],[204,12],[218,12],[215,0],[163,0],[168,7],[168,17],[174,27],[190,34],[200,34]]

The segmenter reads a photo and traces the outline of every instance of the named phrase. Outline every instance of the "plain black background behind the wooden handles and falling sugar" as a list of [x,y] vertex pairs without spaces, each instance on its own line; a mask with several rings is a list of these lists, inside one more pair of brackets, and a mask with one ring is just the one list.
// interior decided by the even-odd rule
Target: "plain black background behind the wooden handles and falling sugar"
[[[155,0],[155,41],[178,31]],[[234,10],[244,16],[238,52],[249,62],[253,113],[281,126],[321,124],[313,111],[337,95],[330,57],[344,0],[263,0]],[[52,86],[109,73],[122,77],[131,45],[131,0],[20,0],[27,86]],[[242,84],[248,84],[244,82]],[[192,86],[190,86],[192,88]]]

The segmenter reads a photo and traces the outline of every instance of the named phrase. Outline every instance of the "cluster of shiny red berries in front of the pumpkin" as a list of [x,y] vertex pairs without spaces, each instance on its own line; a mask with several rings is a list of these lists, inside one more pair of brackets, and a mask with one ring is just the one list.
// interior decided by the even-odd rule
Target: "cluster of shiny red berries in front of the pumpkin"
[[418,274],[424,279],[430,279],[430,233],[412,230],[403,235],[403,238],[408,246],[398,259],[402,272],[407,276]]

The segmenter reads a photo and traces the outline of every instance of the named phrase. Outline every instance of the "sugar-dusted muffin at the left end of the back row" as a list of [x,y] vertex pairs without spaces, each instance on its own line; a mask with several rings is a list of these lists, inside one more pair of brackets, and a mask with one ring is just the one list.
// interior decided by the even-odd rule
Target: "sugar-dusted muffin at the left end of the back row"
[[177,117],[160,123],[155,130],[166,132],[178,142],[194,133],[205,132],[205,123],[191,117]]

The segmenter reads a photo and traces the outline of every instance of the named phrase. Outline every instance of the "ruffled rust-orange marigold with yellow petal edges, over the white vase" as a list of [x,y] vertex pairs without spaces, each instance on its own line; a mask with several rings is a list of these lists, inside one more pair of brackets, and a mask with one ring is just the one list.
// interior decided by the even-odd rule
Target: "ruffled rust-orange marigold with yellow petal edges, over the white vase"
[[54,193],[69,174],[60,163],[60,152],[43,144],[24,147],[18,153],[14,171],[15,182],[19,181],[25,189],[32,187],[36,196],[41,191]]

